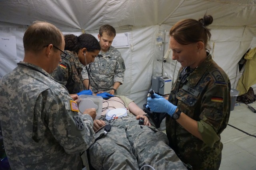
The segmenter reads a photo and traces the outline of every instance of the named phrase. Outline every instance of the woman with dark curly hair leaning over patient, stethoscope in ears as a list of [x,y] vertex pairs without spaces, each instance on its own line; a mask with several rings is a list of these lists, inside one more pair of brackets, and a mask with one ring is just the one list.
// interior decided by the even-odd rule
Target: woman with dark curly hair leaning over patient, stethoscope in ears
[[92,92],[85,90],[82,83],[82,66],[94,62],[95,57],[100,53],[100,44],[93,35],[87,33],[78,37],[73,34],[64,35],[64,37],[65,50],[62,55],[66,57],[51,75],[63,84],[70,94],[91,95]]

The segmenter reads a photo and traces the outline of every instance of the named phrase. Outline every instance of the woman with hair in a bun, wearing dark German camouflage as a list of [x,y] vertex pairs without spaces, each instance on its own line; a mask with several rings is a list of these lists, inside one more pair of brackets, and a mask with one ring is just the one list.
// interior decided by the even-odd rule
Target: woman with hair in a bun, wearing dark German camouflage
[[206,49],[212,16],[177,22],[170,30],[172,59],[181,64],[169,101],[154,94],[148,107],[166,112],[166,135],[180,160],[193,170],[220,167],[220,133],[230,115],[230,80]]

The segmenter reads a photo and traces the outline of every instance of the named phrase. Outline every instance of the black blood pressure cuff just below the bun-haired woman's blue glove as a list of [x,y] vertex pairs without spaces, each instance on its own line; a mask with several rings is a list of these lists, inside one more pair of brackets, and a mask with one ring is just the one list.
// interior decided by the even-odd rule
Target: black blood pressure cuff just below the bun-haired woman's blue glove
[[167,113],[156,113],[154,111],[150,111],[150,108],[146,107],[146,104],[143,105],[143,111],[148,114],[150,120],[154,123],[156,128],[159,128],[162,120],[166,117]]

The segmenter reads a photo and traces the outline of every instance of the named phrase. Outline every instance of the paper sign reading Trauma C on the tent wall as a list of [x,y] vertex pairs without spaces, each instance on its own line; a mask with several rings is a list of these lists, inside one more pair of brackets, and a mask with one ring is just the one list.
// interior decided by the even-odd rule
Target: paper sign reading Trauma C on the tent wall
[[0,36],[0,58],[16,59],[16,37]]

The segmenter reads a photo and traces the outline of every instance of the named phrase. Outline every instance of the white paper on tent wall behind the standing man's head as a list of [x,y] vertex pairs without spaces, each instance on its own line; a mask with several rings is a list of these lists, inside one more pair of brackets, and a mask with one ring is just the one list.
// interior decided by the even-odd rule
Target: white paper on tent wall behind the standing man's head
[[130,47],[128,33],[117,33],[113,40],[112,46],[115,48]]

